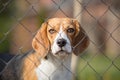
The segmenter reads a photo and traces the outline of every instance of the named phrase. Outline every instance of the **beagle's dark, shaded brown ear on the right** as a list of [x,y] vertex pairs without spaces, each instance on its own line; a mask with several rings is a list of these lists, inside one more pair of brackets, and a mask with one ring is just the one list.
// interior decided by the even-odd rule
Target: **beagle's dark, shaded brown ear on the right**
[[73,53],[78,56],[88,47],[89,38],[77,20],[73,20],[73,23],[76,26],[76,35],[73,40]]

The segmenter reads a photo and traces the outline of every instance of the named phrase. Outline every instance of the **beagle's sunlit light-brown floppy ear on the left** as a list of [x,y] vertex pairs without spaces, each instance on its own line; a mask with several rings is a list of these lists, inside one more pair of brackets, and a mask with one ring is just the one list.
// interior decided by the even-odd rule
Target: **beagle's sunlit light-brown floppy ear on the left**
[[43,23],[41,28],[38,30],[37,34],[32,41],[33,49],[40,54],[41,57],[45,57],[49,51],[49,40],[47,37],[47,23]]

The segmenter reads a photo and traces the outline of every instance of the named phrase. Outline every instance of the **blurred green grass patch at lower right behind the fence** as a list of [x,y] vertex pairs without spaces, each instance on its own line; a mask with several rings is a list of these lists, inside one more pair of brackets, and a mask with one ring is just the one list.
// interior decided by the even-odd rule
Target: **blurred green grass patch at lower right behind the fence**
[[120,80],[120,56],[114,60],[102,54],[81,56],[76,80]]

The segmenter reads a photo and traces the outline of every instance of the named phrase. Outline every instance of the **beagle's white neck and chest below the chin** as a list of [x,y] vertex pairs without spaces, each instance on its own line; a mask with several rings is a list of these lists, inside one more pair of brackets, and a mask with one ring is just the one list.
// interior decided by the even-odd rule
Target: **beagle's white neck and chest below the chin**
[[36,68],[38,80],[71,80],[71,54],[64,58],[47,55]]

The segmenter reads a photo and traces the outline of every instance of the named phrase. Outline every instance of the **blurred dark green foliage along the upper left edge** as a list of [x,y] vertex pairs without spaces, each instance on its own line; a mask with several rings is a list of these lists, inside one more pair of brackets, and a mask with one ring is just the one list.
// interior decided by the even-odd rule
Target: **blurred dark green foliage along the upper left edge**
[[[10,4],[9,4],[10,3]],[[14,0],[0,0],[0,53],[8,53],[10,47],[10,34],[7,34],[12,25],[11,14],[15,12],[13,8]],[[12,5],[12,6],[11,6]]]

